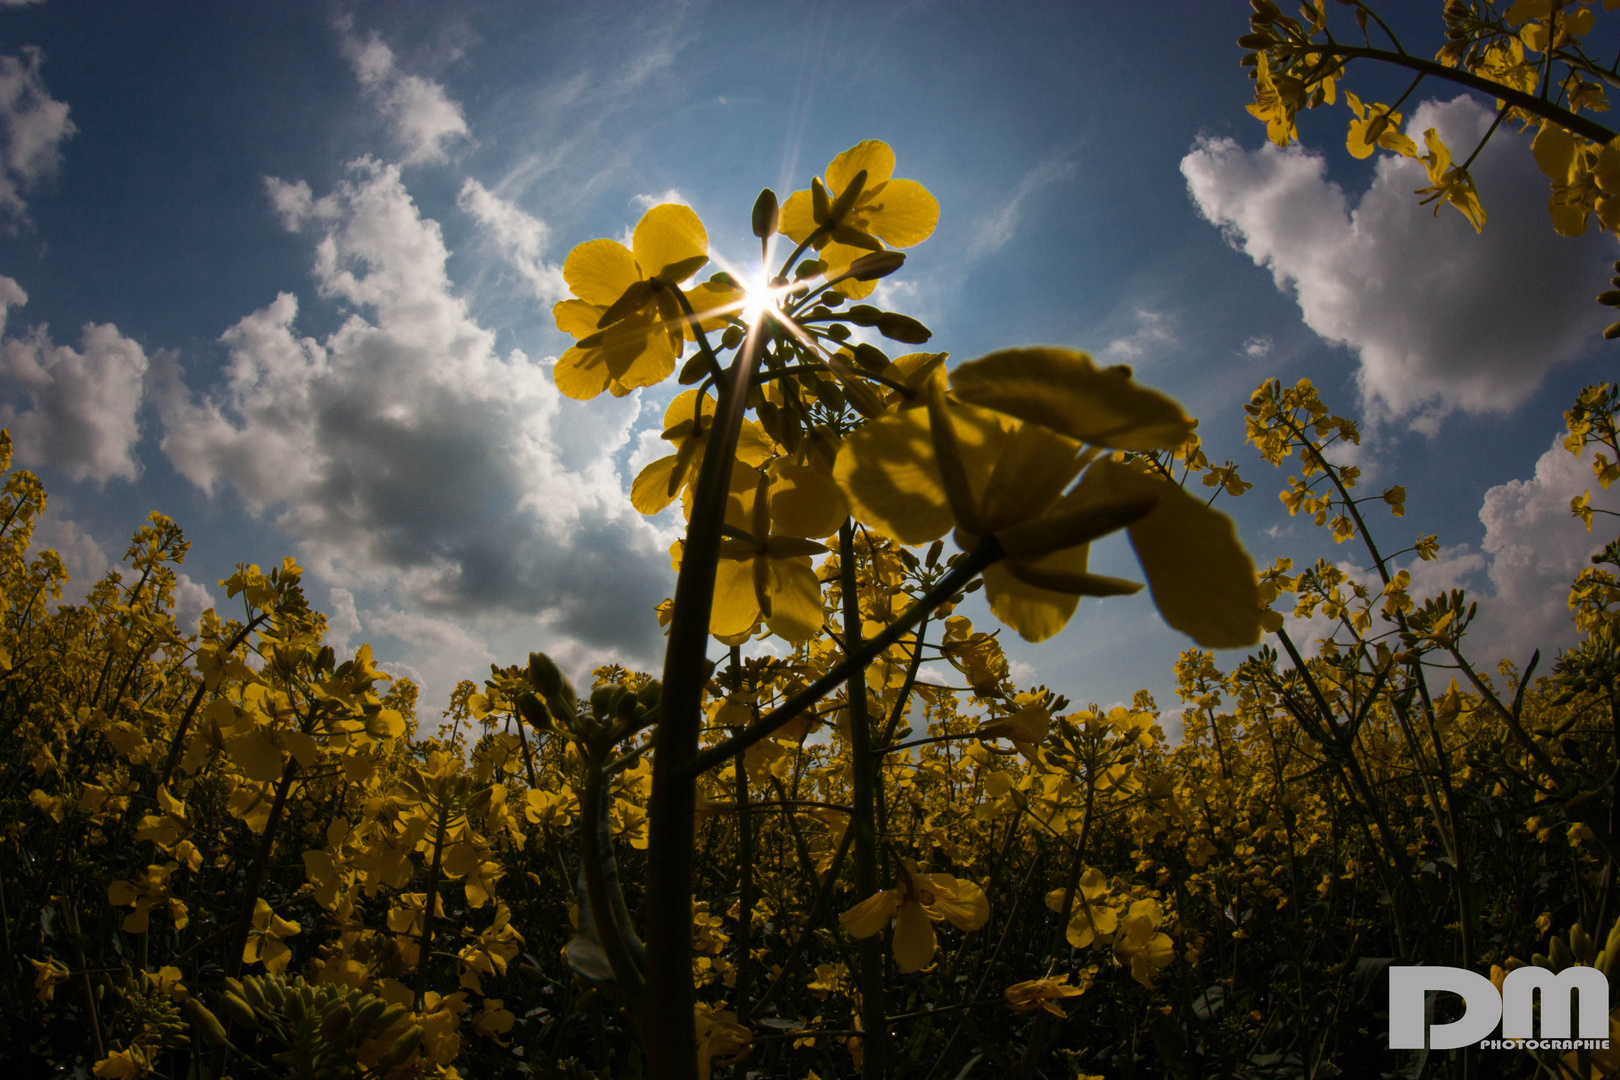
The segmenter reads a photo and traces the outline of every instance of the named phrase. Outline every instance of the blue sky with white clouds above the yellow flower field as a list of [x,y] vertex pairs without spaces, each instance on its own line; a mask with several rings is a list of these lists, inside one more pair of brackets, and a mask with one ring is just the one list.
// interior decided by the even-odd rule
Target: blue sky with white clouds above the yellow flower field
[[[557,267],[671,198],[745,257],[761,186],[878,138],[941,204],[881,293],[936,347],[1132,364],[1244,465],[1226,505],[1260,563],[1359,555],[1290,520],[1286,474],[1243,445],[1254,385],[1311,377],[1362,419],[1369,491],[1408,487],[1383,546],[1439,533],[1419,586],[1481,597],[1479,659],[1550,653],[1604,539],[1552,447],[1610,371],[1591,298],[1614,244],[1552,235],[1520,136],[1476,164],[1481,236],[1416,206],[1411,162],[1345,154],[1343,108],[1265,149],[1246,11],[0,3],[0,423],[52,492],[40,542],[86,581],[162,510],[193,539],[193,614],[232,563],[293,554],[334,636],[429,706],[531,648],[656,669],[677,523],[625,492],[674,387],[559,398]],[[1419,138],[1489,121],[1422,89]],[[1100,563],[1134,572],[1123,547]],[[1171,704],[1187,644],[1145,597],[1008,641],[1030,682],[1103,704]]]

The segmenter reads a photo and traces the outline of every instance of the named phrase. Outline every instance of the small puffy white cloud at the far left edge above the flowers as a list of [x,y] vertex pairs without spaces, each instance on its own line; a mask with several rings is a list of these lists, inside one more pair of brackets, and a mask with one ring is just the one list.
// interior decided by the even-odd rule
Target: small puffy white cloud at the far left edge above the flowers
[[[0,330],[28,293],[0,277]],[[24,465],[49,465],[71,479],[134,479],[146,351],[112,324],[86,324],[79,348],[55,345],[47,327],[0,342],[0,384],[28,405],[0,405],[0,426]]]

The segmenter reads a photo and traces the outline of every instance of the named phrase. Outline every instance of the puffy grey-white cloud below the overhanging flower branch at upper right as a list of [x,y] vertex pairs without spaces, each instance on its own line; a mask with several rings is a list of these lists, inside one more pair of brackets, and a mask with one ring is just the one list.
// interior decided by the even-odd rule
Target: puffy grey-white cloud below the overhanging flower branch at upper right
[[[1406,134],[1421,146],[1435,128],[1466,155],[1490,120],[1468,97],[1424,102]],[[1294,291],[1306,325],[1358,356],[1374,416],[1432,432],[1453,410],[1511,410],[1604,324],[1592,303],[1605,277],[1601,236],[1554,233],[1547,181],[1507,131],[1471,167],[1489,212],[1477,235],[1455,209],[1435,217],[1419,206],[1427,173],[1395,154],[1379,155],[1356,198],[1299,147],[1204,139],[1181,172],[1204,217]]]

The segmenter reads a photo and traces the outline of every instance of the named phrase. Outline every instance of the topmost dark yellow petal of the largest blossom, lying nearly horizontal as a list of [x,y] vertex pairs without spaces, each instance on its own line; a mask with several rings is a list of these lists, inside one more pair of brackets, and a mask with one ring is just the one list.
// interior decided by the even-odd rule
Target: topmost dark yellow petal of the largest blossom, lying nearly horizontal
[[1129,368],[1097,368],[1068,348],[1008,348],[951,372],[951,390],[982,405],[1116,450],[1173,450],[1192,421],[1158,390],[1139,385]]

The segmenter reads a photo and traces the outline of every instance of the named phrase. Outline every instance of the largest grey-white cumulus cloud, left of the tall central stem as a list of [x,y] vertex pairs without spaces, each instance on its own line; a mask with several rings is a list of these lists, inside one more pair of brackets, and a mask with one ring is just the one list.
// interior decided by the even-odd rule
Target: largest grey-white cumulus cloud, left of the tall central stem
[[[298,185],[271,186],[277,207],[287,191]],[[152,395],[175,470],[274,513],[301,562],[347,593],[329,596],[334,630],[395,636],[407,654],[394,659],[433,677],[433,695],[449,691],[444,643],[428,633],[442,619],[543,627],[559,654],[598,662],[650,656],[667,541],[614,465],[637,400],[564,402],[543,364],[497,355],[399,165],[361,159],[330,194],[292,204],[288,223],[318,223],[318,291],[355,313],[316,338],[298,329],[296,296],[279,295],[224,334],[230,359],[204,393],[160,364]],[[389,601],[355,610],[363,589]],[[392,612],[429,622],[376,622]]]

